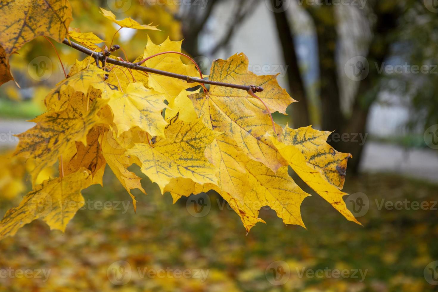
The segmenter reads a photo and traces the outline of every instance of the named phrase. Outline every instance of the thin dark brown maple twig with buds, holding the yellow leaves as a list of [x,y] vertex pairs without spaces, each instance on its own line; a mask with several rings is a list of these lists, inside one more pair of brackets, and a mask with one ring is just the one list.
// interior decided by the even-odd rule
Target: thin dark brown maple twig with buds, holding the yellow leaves
[[230,87],[230,88],[237,88],[237,89],[241,89],[244,91],[249,91],[249,90],[252,90],[254,92],[263,91],[263,88],[260,86],[240,85],[240,84],[232,84],[232,83],[225,83],[225,82],[219,82],[219,81],[204,80],[204,79],[200,79],[200,78],[190,77],[187,75],[181,75],[181,74],[176,74],[176,73],[158,70],[158,69],[154,69],[154,68],[149,68],[149,67],[145,67],[145,66],[139,66],[139,65],[135,65],[134,63],[130,63],[130,62],[115,60],[112,58],[106,58],[106,56],[104,54],[102,54],[100,52],[99,53],[93,52],[91,49],[88,49],[84,46],[81,46],[75,42],[69,41],[68,39],[64,39],[63,43],[67,46],[72,47],[73,49],[76,49],[76,50],[88,55],[88,56],[93,56],[96,61],[100,60],[101,62],[105,62],[105,59],[106,59],[106,63],[110,63],[110,64],[121,66],[121,67],[126,67],[128,69],[139,70],[139,71],[148,72],[148,73],[152,73],[152,74],[158,74],[158,75],[163,75],[163,76],[167,76],[167,77],[177,78],[180,80],[187,81],[187,83],[210,84],[210,85],[224,86],[224,87]]

